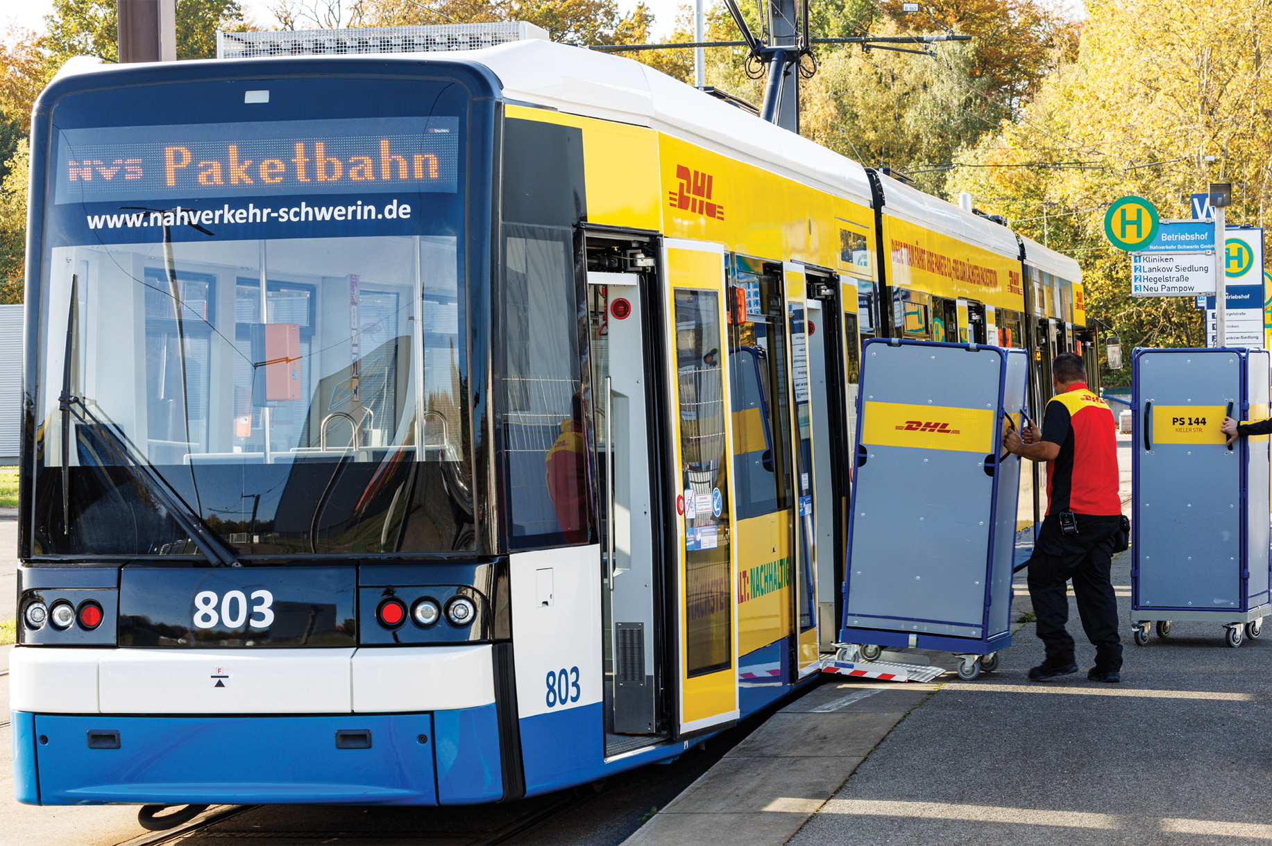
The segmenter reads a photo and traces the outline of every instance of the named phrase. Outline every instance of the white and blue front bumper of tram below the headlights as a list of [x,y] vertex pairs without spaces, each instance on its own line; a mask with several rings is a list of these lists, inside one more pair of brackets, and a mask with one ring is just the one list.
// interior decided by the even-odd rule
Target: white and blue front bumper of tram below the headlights
[[[490,667],[490,647],[464,649],[485,649]],[[86,652],[94,654],[71,654]],[[273,654],[262,650],[251,659],[266,669],[275,667],[272,687],[279,694],[258,701],[272,702],[275,713],[252,714],[251,706],[244,708],[245,702],[237,697],[237,713],[218,714],[209,713],[210,709],[193,713],[198,701],[191,701],[191,696],[196,691],[181,671],[186,659],[197,657],[163,650],[177,663],[173,668],[162,657],[168,673],[165,694],[145,682],[155,678],[156,658],[142,652],[159,650],[19,647],[11,653],[14,794],[19,802],[436,805],[502,798],[494,690],[487,694],[466,687],[462,694],[469,699],[488,696],[488,701],[468,708],[425,709],[421,705],[430,699],[426,695],[415,696],[412,702],[394,701],[401,699],[396,690],[421,691],[448,681],[425,676],[431,683],[421,686],[417,675],[425,669],[418,666],[421,655],[412,662],[407,650],[366,650],[373,653],[374,661],[368,667],[374,667],[374,672],[359,673],[352,650],[338,650],[349,653],[345,671],[328,677],[309,675],[298,697],[296,691],[280,690],[300,681],[287,677],[287,655],[280,653],[307,652],[309,655],[295,657],[312,657],[322,663],[314,653],[337,650],[268,650]],[[394,654],[403,661],[393,662],[396,671],[387,675],[385,662]],[[235,666],[233,658],[239,655],[218,653],[221,663],[212,671],[219,672],[202,667],[209,657],[205,655],[198,664],[200,688],[225,690],[215,687],[216,681],[225,682],[211,677],[216,675],[228,676],[235,685],[259,678],[253,683],[263,686],[268,673],[248,671],[248,663],[238,666],[240,672],[226,669]],[[480,663],[481,655],[469,658]],[[141,700],[121,701],[104,687],[98,692],[98,678],[108,675],[107,664],[112,662],[111,672],[116,675],[121,663],[141,668],[135,681],[150,694],[144,697],[150,701],[149,713]],[[401,683],[393,685],[393,678]],[[491,678],[488,669],[485,678]],[[332,685],[343,685],[346,690],[352,686],[350,699],[343,700],[350,704],[338,711],[332,708]],[[359,699],[368,702],[373,696],[382,705],[416,708],[398,709],[410,713],[354,709]],[[439,696],[455,701],[453,688]],[[99,699],[103,705],[112,701],[116,708],[98,709]],[[279,713],[279,700],[289,705],[285,713]],[[121,713],[125,704],[127,711]],[[304,704],[309,704],[310,713],[298,713]],[[313,713],[318,710],[326,713]]]

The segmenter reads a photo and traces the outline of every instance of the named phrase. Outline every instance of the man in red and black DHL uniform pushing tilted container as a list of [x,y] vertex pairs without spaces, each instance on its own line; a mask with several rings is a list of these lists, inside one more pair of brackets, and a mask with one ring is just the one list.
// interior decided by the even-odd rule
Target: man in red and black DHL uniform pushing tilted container
[[1029,671],[1033,681],[1077,672],[1068,622],[1066,583],[1074,581],[1077,614],[1095,647],[1088,678],[1121,681],[1122,640],[1117,596],[1109,581],[1114,535],[1122,526],[1117,436],[1108,403],[1086,387],[1080,356],[1052,363],[1056,395],[1047,403],[1042,432],[1033,423],[1004,438],[1009,452],[1047,462],[1047,516],[1029,559],[1029,598],[1047,657]]

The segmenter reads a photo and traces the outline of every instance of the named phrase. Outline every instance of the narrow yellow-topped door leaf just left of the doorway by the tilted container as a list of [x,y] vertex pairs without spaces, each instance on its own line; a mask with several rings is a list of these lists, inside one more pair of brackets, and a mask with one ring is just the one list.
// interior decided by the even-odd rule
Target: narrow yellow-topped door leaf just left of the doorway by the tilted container
[[[817,661],[817,521],[813,450],[813,399],[809,377],[808,277],[799,264],[782,265],[786,287],[786,354],[795,417],[795,621],[796,662],[804,675]],[[824,400],[824,387],[822,398]],[[822,409],[824,412],[824,409]]]

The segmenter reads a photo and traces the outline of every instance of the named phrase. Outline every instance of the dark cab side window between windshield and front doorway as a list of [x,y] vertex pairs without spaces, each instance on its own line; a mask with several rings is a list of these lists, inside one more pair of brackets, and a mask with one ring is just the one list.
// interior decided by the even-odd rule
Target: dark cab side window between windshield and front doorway
[[591,507],[572,234],[513,224],[504,231],[500,428],[509,544],[586,544]]

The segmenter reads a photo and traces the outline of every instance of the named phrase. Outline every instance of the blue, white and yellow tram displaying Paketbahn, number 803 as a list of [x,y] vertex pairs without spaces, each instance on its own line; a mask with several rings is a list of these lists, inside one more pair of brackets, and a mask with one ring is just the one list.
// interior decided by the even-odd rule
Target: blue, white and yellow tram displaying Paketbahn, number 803
[[862,338],[1091,349],[1071,259],[541,39],[74,60],[32,138],[24,803],[674,758],[832,649]]

